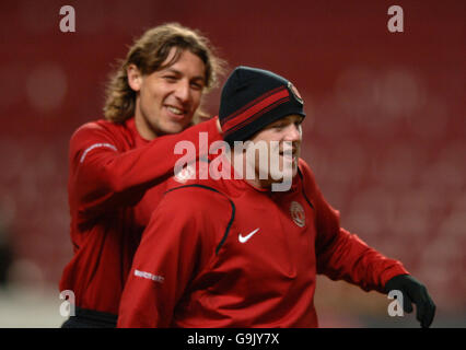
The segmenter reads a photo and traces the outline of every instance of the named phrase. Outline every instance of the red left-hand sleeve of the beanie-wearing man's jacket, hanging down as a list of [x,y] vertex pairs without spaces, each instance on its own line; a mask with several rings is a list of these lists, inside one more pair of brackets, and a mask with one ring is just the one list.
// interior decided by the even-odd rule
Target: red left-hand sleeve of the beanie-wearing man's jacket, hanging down
[[203,210],[212,197],[202,191],[173,190],[153,212],[121,295],[118,327],[170,327],[188,283],[214,256],[215,240],[208,236],[214,230]]

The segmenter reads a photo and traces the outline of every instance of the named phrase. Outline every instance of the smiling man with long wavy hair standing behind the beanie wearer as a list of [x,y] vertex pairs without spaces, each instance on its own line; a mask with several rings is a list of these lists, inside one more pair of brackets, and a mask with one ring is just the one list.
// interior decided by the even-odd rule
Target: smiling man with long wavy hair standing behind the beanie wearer
[[115,327],[141,233],[180,156],[173,152],[176,142],[198,144],[199,132],[209,142],[221,139],[217,117],[197,124],[202,95],[215,86],[221,67],[198,31],[177,23],[153,27],[110,78],[105,119],[71,137],[74,254],[59,288],[74,293],[75,316],[63,327]]

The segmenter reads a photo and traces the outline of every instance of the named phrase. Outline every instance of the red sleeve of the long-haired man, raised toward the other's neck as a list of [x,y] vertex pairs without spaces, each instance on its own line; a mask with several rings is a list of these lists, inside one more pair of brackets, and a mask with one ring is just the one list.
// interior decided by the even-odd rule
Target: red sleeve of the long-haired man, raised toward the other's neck
[[[199,133],[207,132],[209,144],[220,140],[215,119],[185,131],[156,138],[144,147],[124,150],[121,136],[98,124],[80,128],[70,142],[69,194],[71,207],[82,219],[115,210],[140,200],[143,192],[173,175],[178,141],[190,141],[199,155]],[[120,139],[118,139],[120,138]]]

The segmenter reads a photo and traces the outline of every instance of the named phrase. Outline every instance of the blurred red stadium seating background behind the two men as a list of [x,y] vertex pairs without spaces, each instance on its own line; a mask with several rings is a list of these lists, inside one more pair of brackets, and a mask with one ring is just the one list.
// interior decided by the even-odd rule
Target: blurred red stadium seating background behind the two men
[[[65,4],[75,33],[59,30]],[[387,30],[392,4],[404,33]],[[0,327],[63,322],[69,138],[102,116],[106,77],[132,38],[172,21],[207,34],[230,69],[293,81],[310,116],[303,158],[342,225],[428,285],[434,327],[465,327],[465,14],[451,0],[2,1]],[[206,100],[212,115],[219,94]],[[389,317],[382,294],[318,282],[324,327],[417,327]]]

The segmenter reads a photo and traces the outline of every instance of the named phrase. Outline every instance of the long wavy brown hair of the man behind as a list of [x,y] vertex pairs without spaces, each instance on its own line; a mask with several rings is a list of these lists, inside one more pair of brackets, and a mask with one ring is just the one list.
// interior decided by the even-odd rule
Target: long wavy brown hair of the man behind
[[[165,66],[176,62],[184,50],[189,50],[206,65],[205,92],[218,85],[218,79],[224,72],[225,62],[215,55],[209,39],[197,30],[178,23],[166,23],[145,31],[137,38],[126,59],[119,61],[119,67],[109,77],[105,90],[105,119],[123,122],[135,115],[137,94],[128,84],[128,66],[135,65],[142,74],[151,74],[162,68],[173,47],[176,48],[176,52],[172,61]],[[200,117],[205,115],[198,110],[194,121],[196,122]]]

